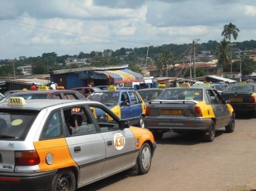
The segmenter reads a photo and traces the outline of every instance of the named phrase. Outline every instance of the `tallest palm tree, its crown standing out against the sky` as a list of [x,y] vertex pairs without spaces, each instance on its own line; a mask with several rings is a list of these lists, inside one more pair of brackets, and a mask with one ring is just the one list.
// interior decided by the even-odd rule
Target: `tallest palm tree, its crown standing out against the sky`
[[[224,25],[222,36],[224,36],[225,39],[229,39],[229,42],[231,43],[231,35],[233,36],[234,40],[238,37],[238,32],[240,30],[236,27],[236,25],[233,25],[232,23],[229,23],[229,25]],[[230,55],[231,55],[231,70],[230,70],[230,78],[232,74],[232,49],[230,45]]]

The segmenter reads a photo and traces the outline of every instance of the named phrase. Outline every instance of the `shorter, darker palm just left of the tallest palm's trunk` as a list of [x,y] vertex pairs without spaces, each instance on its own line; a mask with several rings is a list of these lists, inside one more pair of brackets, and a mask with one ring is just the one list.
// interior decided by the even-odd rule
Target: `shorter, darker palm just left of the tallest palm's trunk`
[[221,65],[221,75],[222,75],[223,66],[230,63],[229,44],[230,44],[229,41],[226,41],[224,38],[217,45],[216,56],[218,58],[218,64]]

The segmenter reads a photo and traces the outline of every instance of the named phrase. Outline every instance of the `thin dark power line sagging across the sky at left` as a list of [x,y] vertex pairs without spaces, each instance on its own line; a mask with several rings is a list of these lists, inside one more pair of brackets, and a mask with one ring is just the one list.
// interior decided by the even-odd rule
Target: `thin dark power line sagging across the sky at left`
[[19,23],[19,24],[22,24],[22,25],[30,25],[30,26],[35,26],[35,27],[44,28],[44,29],[48,29],[48,30],[54,30],[54,31],[58,31],[58,32],[67,32],[67,33],[70,33],[70,34],[87,36],[87,37],[91,37],[91,38],[100,38],[100,39],[105,39],[105,40],[121,41],[121,42],[127,42],[127,43],[135,43],[135,44],[145,44],[145,43],[137,42],[137,41],[120,40],[120,39],[114,39],[114,38],[104,38],[104,37],[97,37],[97,36],[94,36],[94,35],[87,35],[87,34],[82,34],[82,33],[77,33],[77,32],[64,31],[64,30],[48,28],[48,27],[40,26],[40,25],[32,25],[32,24],[28,24],[28,23],[23,23],[23,22],[16,21],[16,20],[11,20],[11,19],[4,19],[4,18],[0,18],[0,19],[15,22],[15,23]]

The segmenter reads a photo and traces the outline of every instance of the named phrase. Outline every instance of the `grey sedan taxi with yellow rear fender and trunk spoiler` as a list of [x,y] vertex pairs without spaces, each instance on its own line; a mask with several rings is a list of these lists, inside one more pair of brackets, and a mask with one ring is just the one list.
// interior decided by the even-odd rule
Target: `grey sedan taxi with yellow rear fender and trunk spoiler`
[[235,114],[216,89],[183,83],[181,88],[165,89],[157,100],[149,102],[145,127],[155,139],[168,131],[200,130],[205,141],[213,141],[217,128],[234,131]]

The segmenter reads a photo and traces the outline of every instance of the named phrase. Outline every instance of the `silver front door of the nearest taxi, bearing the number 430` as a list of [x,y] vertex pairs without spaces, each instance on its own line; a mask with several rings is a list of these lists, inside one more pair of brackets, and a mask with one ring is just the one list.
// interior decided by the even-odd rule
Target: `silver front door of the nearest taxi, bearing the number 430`
[[[100,115],[93,114],[101,129],[106,145],[106,162],[102,175],[131,166],[135,154],[135,138],[129,128],[120,128],[120,121],[115,115],[99,104],[88,104]],[[96,115],[96,116],[95,116]]]

